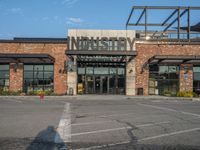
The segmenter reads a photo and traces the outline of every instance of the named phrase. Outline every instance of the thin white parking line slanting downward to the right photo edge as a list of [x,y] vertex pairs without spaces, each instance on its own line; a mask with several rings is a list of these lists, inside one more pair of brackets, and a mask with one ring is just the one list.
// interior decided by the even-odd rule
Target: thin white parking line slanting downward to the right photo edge
[[171,111],[171,112],[178,112],[178,113],[182,113],[182,114],[186,114],[186,115],[192,115],[192,116],[195,116],[195,117],[200,117],[200,114],[195,114],[195,113],[190,113],[190,112],[185,112],[185,111],[178,111],[178,110],[171,109],[171,108],[166,108],[166,107],[147,105],[147,104],[141,104],[141,103],[138,103],[138,105],[145,106],[145,107],[156,108],[156,109],[160,109],[160,110]]

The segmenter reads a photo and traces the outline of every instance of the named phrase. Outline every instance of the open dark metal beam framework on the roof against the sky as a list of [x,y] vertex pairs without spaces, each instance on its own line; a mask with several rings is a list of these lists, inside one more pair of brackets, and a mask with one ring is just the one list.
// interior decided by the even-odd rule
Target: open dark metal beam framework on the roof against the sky
[[[137,10],[142,10],[140,16],[138,17],[136,22],[131,22],[131,18],[133,17],[133,12]],[[172,10],[172,13],[160,23],[148,23],[148,10]],[[187,39],[190,40],[190,30],[191,30],[191,10],[200,10],[200,7],[178,7],[178,6],[133,6],[131,12],[129,14],[128,20],[126,22],[126,28],[128,26],[144,26],[145,27],[145,37],[147,37],[147,27],[149,26],[157,26],[157,27],[165,27],[161,32],[161,35],[166,33],[170,27],[172,27],[176,22],[177,23],[177,39],[180,39],[181,33],[181,17],[187,14]],[[174,20],[171,22],[170,19],[176,16]],[[145,23],[140,23],[141,19],[144,17]],[[155,31],[152,36],[156,34]]]

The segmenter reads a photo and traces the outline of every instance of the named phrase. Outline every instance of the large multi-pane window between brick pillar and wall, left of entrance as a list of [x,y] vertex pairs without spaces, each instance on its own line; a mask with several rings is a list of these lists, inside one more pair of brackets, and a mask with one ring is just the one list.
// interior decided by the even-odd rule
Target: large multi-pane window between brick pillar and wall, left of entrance
[[53,91],[53,65],[24,65],[24,92]]

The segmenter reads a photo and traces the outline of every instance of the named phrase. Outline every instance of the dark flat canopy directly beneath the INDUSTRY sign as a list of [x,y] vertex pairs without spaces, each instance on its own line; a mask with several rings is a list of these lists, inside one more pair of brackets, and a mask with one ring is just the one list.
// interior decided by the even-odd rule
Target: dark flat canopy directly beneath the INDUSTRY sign
[[136,55],[136,51],[100,51],[100,50],[67,50],[70,59],[77,58],[79,62],[129,62]]

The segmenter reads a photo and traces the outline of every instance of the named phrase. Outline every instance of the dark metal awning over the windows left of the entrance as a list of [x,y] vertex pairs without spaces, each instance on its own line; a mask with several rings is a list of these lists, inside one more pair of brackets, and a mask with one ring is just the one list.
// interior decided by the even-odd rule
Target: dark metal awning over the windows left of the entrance
[[0,53],[0,63],[53,63],[49,54],[14,54]]

